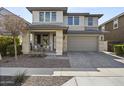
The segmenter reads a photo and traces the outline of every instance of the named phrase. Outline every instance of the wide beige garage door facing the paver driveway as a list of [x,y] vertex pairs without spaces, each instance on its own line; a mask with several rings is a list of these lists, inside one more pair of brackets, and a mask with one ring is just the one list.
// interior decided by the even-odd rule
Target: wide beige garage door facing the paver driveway
[[68,36],[68,51],[97,51],[97,37]]

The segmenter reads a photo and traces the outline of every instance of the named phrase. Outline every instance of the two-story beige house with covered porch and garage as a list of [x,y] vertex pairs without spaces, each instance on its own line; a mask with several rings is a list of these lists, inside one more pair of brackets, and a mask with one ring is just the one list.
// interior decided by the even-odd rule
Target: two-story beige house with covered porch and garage
[[30,43],[34,48],[44,47],[56,55],[62,55],[67,51],[107,49],[103,32],[98,30],[98,19],[103,14],[68,13],[67,7],[27,9],[32,13],[32,24],[23,37],[24,54],[31,52]]

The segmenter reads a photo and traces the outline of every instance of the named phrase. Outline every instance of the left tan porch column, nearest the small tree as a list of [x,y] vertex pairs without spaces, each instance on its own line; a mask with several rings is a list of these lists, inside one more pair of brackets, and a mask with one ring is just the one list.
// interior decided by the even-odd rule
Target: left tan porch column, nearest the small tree
[[30,41],[29,41],[29,32],[23,33],[22,36],[22,52],[23,54],[28,54],[30,52]]

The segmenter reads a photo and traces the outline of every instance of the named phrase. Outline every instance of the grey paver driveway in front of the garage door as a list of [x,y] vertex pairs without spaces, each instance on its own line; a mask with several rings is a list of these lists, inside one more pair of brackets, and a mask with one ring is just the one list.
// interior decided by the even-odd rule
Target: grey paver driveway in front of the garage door
[[68,56],[72,68],[124,68],[123,58],[102,52],[69,52]]

